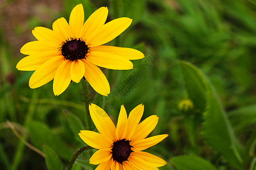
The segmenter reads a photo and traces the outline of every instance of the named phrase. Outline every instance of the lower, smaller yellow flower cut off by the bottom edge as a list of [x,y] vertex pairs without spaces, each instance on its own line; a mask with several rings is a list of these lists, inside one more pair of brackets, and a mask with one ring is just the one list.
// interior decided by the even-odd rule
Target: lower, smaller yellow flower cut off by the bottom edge
[[90,164],[98,165],[96,170],[158,169],[166,162],[158,156],[143,152],[168,137],[167,134],[146,138],[158,123],[158,117],[152,115],[139,123],[144,106],[135,107],[129,114],[121,106],[117,127],[108,114],[97,105],[89,105],[90,116],[100,133],[81,130],[80,138],[89,146],[97,148]]

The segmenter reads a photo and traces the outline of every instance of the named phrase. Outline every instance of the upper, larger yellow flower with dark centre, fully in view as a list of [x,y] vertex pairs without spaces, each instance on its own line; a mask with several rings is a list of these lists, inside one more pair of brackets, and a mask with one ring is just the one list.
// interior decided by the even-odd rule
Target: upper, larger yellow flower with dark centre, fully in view
[[[34,71],[30,88],[38,88],[53,79],[53,92],[60,95],[71,80],[84,77],[101,95],[110,93],[109,82],[99,67],[115,70],[133,69],[132,59],[143,53],[135,49],[102,45],[120,35],[131,24],[130,18],[118,18],[105,24],[108,8],[101,7],[84,23],[84,8],[77,5],[69,17],[57,19],[52,29],[36,27],[32,33],[38,41],[27,42],[20,52],[28,55],[16,68]],[[99,67],[98,67],[99,66]]]

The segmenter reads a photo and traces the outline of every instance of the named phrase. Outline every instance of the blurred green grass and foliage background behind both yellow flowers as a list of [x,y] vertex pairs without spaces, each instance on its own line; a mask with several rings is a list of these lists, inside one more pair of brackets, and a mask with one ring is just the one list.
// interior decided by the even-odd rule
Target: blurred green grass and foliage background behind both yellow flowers
[[[47,169],[43,156],[24,145],[24,141],[41,151],[43,146],[51,147],[61,159],[63,168],[67,167],[72,155],[85,146],[77,135],[83,130],[85,112],[81,83],[72,83],[56,97],[52,82],[32,90],[28,87],[32,71],[15,69],[16,63],[25,57],[19,49],[35,40],[31,30],[38,26],[52,28],[52,23],[61,16],[68,20],[72,8],[79,3],[84,6],[85,18],[97,8],[107,6],[107,22],[121,16],[133,19],[131,26],[108,44],[141,50],[146,57],[133,61],[133,70],[104,69],[111,87],[110,95],[98,95],[88,86],[90,102],[104,108],[115,123],[122,104],[130,112],[143,103],[142,119],[157,114],[159,123],[150,135],[169,134],[169,137],[147,151],[167,161],[168,164],[159,169],[185,169],[182,165],[193,169],[197,162],[202,166],[211,163],[216,169],[224,170],[254,169],[254,0],[0,1],[1,169]],[[179,60],[190,62],[201,71]],[[205,81],[212,86],[208,90],[199,88]],[[209,90],[212,88],[216,92]],[[211,118],[205,115],[215,115],[211,111],[216,108],[214,104],[209,105],[209,100],[200,98],[200,94],[204,96],[207,92],[218,94],[220,108],[225,112],[216,113],[225,115],[221,120],[239,142],[242,151],[234,155],[240,163],[225,155],[218,147],[222,144],[214,141],[226,139],[225,134],[221,134],[222,121],[207,126]],[[217,120],[221,116],[214,118]],[[7,121],[15,127],[23,142]],[[215,128],[218,130],[214,131]],[[209,130],[216,137],[210,135]],[[227,141],[232,138],[227,137]],[[224,148],[233,148],[233,145],[226,146],[224,142]],[[96,166],[88,161],[90,154],[87,151],[80,155],[73,169],[94,169]],[[181,156],[191,154],[204,160]]]

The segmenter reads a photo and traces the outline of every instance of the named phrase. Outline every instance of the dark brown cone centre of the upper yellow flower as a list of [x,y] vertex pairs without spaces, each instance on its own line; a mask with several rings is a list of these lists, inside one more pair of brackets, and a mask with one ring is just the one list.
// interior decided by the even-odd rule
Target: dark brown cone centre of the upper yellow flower
[[65,59],[70,59],[71,61],[85,58],[88,50],[89,48],[85,44],[85,41],[75,38],[62,42],[60,47],[61,54],[65,57]]

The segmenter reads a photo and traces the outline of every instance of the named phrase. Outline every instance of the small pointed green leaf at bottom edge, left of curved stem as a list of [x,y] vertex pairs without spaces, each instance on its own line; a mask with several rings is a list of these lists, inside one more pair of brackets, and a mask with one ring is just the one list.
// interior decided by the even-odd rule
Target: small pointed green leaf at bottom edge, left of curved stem
[[58,170],[62,169],[62,164],[59,159],[59,156],[55,151],[52,150],[51,147],[44,144],[43,145],[44,154],[46,154],[46,165],[49,170]]

